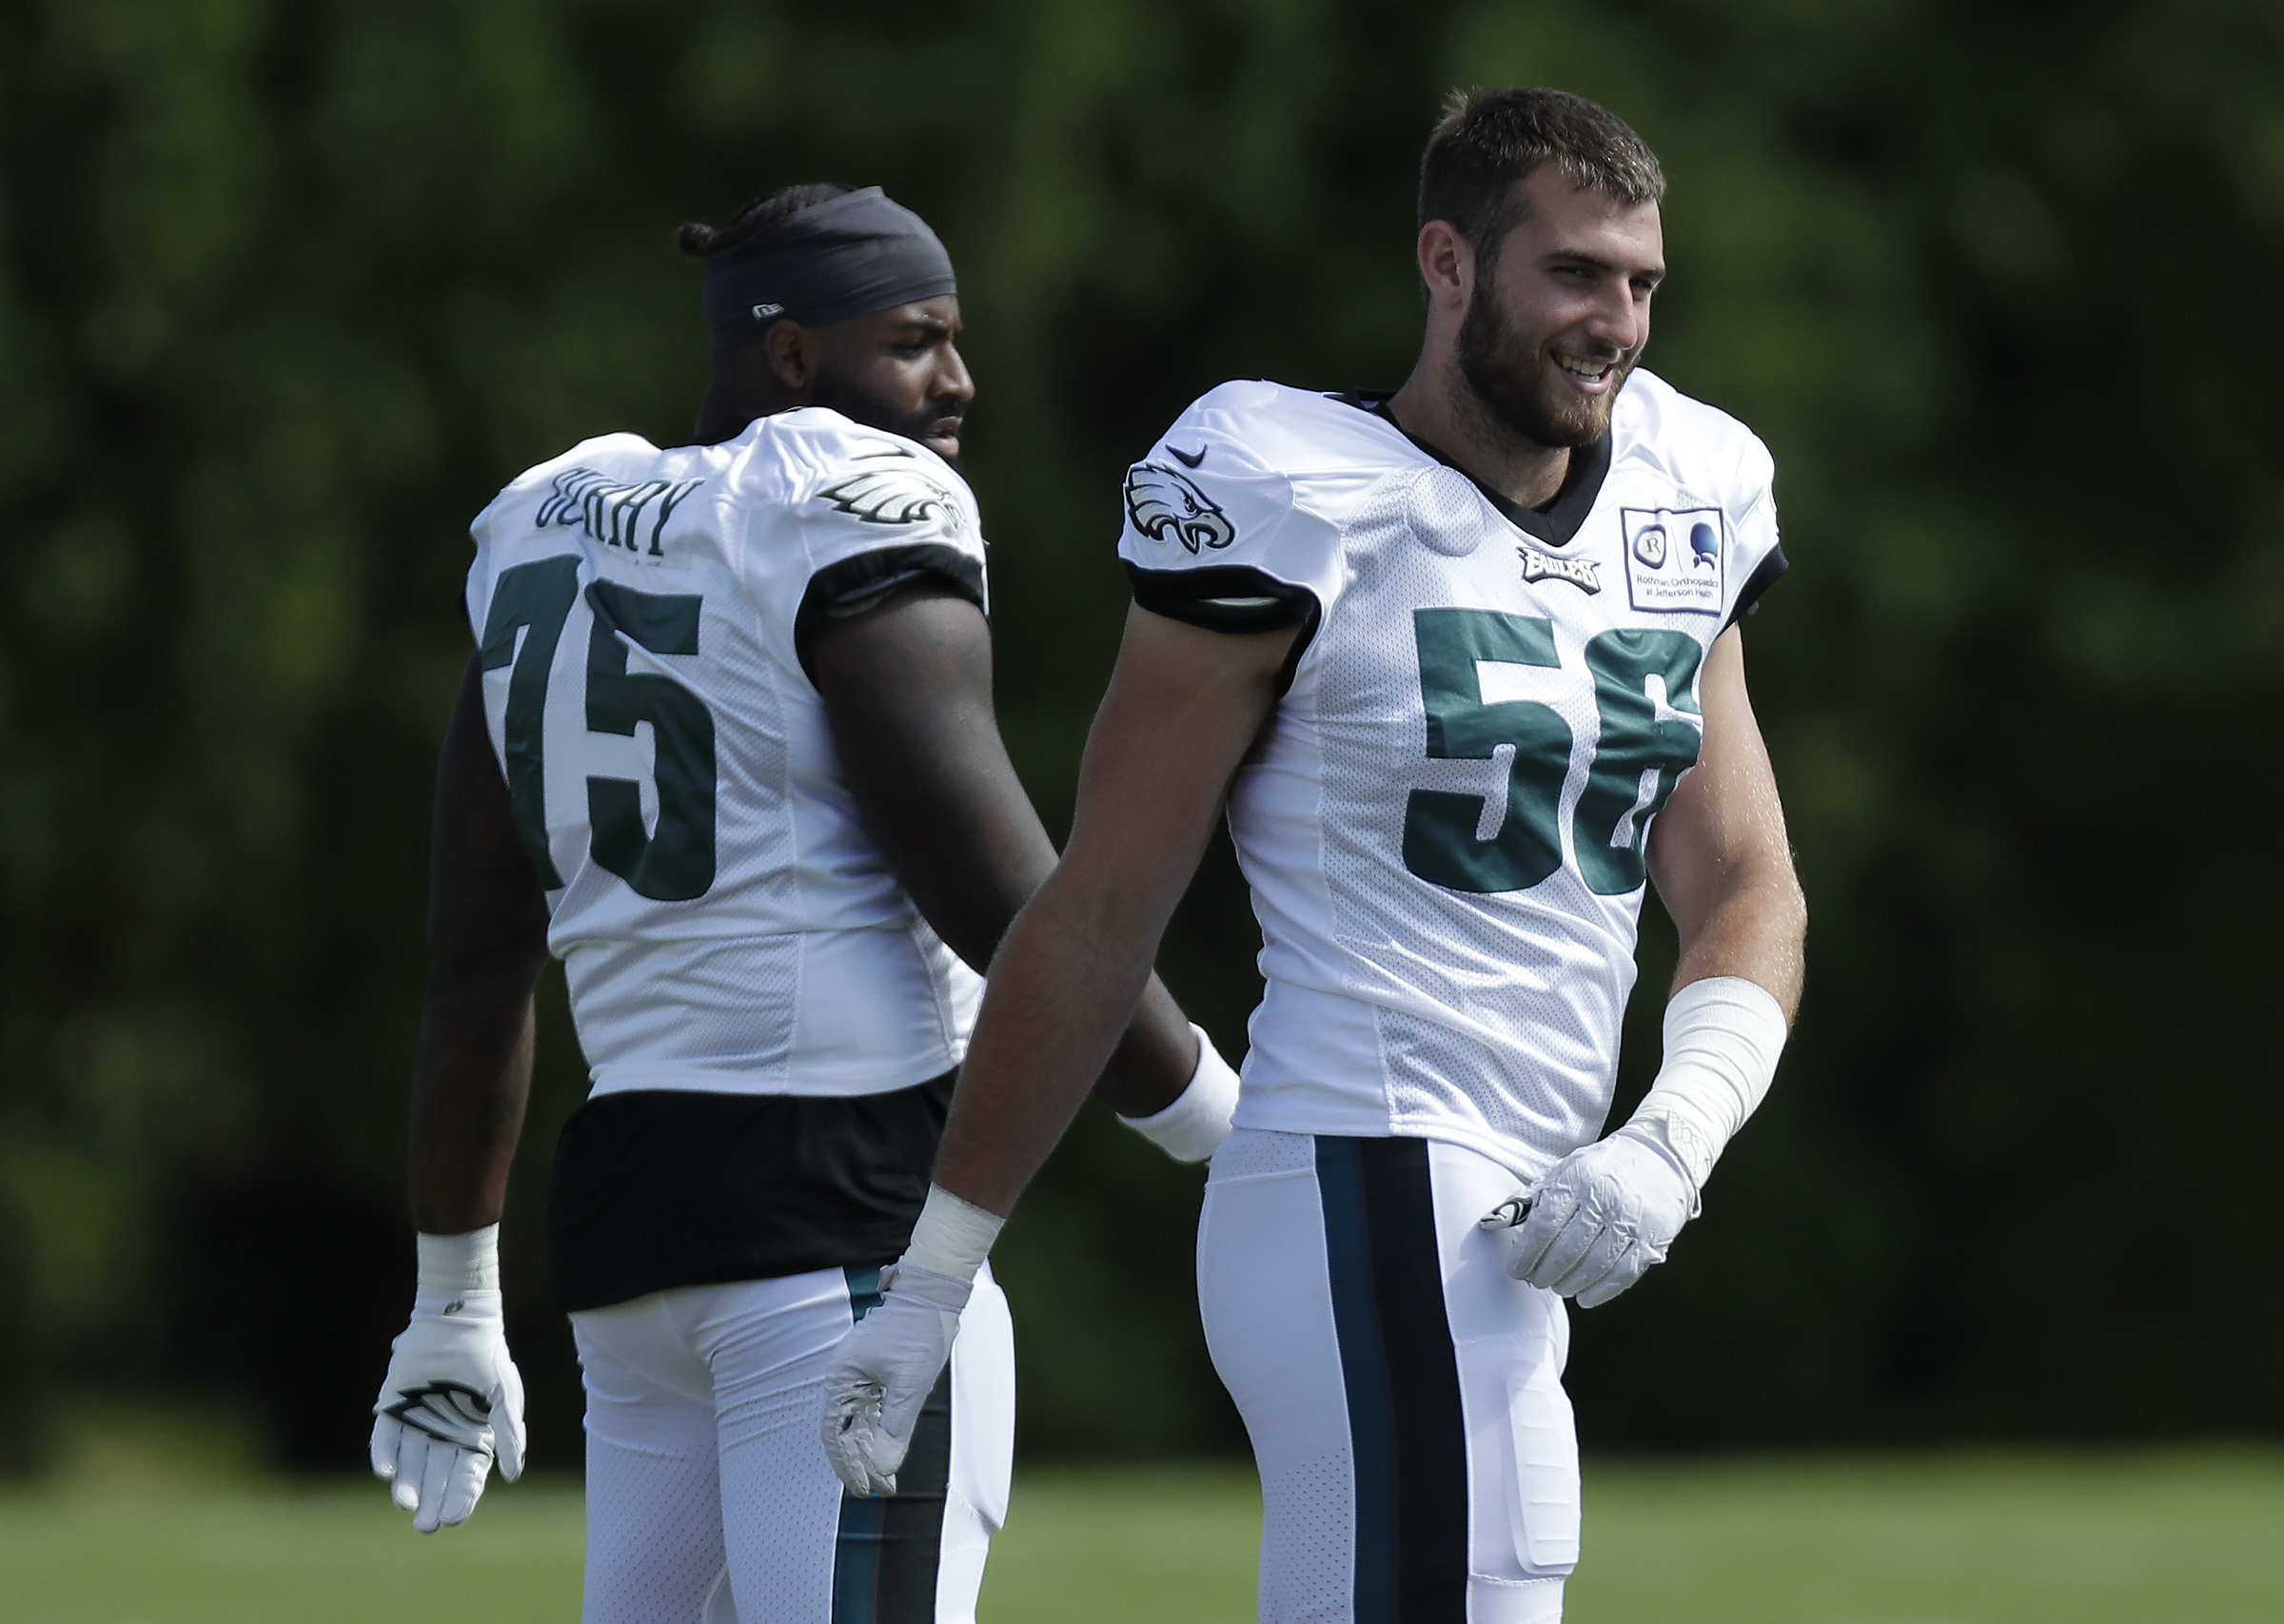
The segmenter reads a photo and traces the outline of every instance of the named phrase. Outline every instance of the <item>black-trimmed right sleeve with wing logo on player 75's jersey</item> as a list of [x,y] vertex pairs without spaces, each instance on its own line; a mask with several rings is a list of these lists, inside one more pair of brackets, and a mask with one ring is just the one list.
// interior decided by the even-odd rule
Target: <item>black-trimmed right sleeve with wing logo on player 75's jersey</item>
[[854,619],[914,580],[989,610],[982,521],[966,482],[936,457],[884,434],[813,436],[781,512],[797,550],[788,608],[809,672],[818,626]]

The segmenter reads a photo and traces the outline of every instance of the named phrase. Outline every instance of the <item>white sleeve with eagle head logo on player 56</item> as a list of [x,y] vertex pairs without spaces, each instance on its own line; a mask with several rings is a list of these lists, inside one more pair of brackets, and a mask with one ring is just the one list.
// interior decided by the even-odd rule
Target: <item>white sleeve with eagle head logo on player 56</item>
[[1252,445],[1224,386],[1126,471],[1119,560],[1135,603],[1224,633],[1316,626],[1341,592],[1341,530]]

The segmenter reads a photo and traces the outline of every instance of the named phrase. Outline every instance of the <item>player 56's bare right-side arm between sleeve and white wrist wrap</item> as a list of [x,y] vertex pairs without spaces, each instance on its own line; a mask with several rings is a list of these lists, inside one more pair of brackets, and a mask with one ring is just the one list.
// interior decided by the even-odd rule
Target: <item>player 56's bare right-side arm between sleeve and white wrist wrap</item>
[[1784,802],[1745,690],[1745,637],[1731,626],[1699,678],[1706,733],[1697,767],[1649,834],[1649,877],[1674,918],[1672,991],[1713,975],[1763,987],[1800,1010],[1809,907],[1793,875]]

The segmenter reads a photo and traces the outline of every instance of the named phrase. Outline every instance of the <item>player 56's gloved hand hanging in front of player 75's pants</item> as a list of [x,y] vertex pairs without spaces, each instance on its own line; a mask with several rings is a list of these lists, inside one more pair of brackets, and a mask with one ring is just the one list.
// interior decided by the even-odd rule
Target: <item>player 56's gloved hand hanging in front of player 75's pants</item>
[[859,1498],[895,1494],[920,1405],[952,1357],[973,1284],[932,1268],[882,1270],[879,1304],[825,1368],[825,1455]]

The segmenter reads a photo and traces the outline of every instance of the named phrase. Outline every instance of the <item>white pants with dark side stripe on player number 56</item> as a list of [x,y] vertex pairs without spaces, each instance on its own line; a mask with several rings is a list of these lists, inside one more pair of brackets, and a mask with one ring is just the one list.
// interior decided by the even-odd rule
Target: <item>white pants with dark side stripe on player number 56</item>
[[1562,1300],[1475,1227],[1498,1163],[1240,1128],[1197,1231],[1261,1466],[1263,1624],[1553,1624],[1578,1562]]

